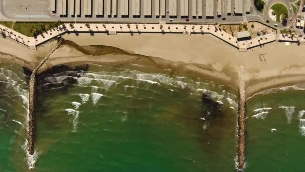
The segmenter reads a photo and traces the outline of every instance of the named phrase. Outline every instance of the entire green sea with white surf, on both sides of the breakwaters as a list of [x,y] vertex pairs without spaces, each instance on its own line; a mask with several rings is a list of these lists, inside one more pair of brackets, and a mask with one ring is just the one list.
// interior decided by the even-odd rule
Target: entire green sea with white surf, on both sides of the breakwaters
[[[229,85],[134,64],[50,70],[39,77],[29,156],[29,77],[19,65],[0,68],[0,171],[235,171]],[[203,93],[224,110],[204,106]],[[302,171],[303,102],[291,87],[247,102],[245,171]]]

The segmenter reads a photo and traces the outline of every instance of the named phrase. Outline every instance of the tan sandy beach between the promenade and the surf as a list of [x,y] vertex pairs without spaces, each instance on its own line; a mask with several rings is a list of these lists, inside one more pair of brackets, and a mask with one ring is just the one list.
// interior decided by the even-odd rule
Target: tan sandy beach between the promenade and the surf
[[[66,34],[63,38],[69,41],[51,55],[41,71],[59,64],[136,63],[191,70],[237,88],[237,72],[243,64],[246,97],[266,89],[305,81],[303,44],[297,46],[294,43],[286,47],[284,43],[273,42],[247,52],[238,52],[238,49],[210,34]],[[38,47],[37,51],[30,51],[22,44],[1,38],[0,59],[33,69],[55,46],[56,41],[51,41]],[[260,54],[264,54],[261,60]]]

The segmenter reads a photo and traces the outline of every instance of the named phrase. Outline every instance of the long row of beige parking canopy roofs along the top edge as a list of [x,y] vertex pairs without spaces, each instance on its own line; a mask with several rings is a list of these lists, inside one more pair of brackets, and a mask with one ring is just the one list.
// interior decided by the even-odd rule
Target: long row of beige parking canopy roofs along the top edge
[[[60,15],[60,17],[103,17],[104,15],[117,17],[133,17],[140,16],[143,13],[144,16],[165,16],[166,12],[170,17],[177,17],[180,12],[181,17],[188,18],[202,17],[203,10],[206,12],[207,17],[214,17],[214,1],[217,1],[217,15],[221,16],[224,8],[227,9],[227,13],[231,14],[232,5],[235,9],[236,15],[243,15],[245,4],[242,0],[50,0],[51,11],[54,14]],[[178,1],[178,3],[177,3]],[[246,0],[246,13],[250,13],[251,0]],[[143,3],[143,12],[141,11],[141,3]],[[205,7],[203,7],[205,3]],[[166,9],[166,4],[168,9]],[[119,6],[118,6],[119,5]],[[129,6],[131,6],[131,13],[129,12]],[[154,14],[153,14],[154,6]],[[180,6],[180,7],[178,7]],[[189,6],[192,6],[190,13]],[[117,14],[119,7],[120,14]]]

